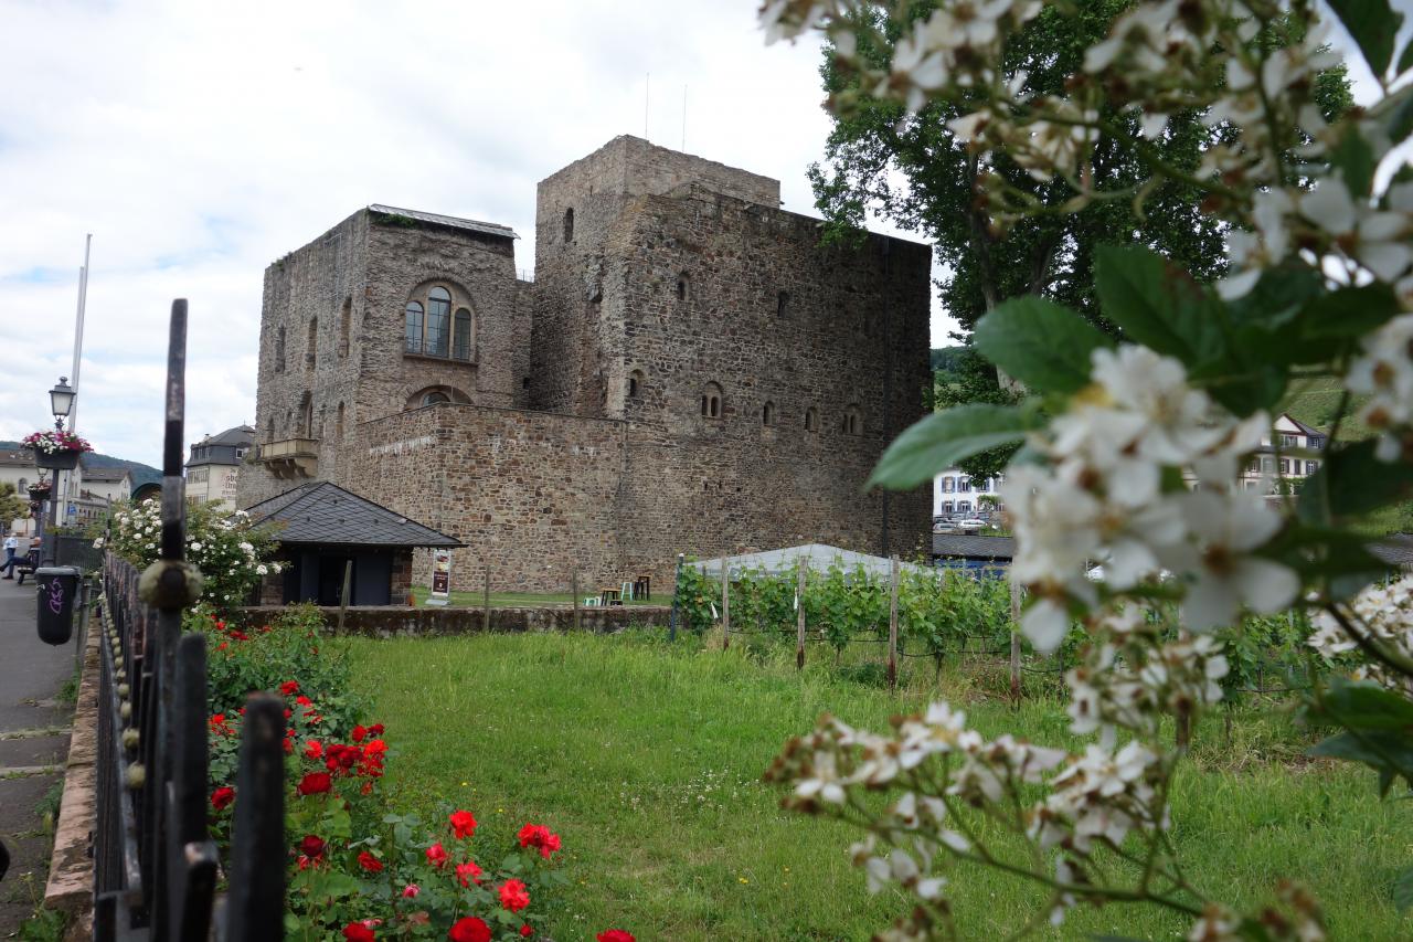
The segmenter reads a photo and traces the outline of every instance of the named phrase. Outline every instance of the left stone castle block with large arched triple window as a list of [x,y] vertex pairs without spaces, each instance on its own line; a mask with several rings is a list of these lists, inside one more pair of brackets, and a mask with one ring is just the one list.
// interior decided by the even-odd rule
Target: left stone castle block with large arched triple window
[[[451,291],[454,313],[462,307],[472,313],[469,362],[404,348],[407,303],[425,303],[434,283]],[[430,389],[458,402],[526,405],[528,287],[516,277],[509,236],[356,212],[266,270],[259,441],[314,438],[318,477],[339,479],[352,430],[407,409]],[[314,347],[308,344],[311,320]],[[285,331],[283,369],[280,328]],[[302,484],[277,479],[263,465],[249,471],[242,475],[240,506]]]

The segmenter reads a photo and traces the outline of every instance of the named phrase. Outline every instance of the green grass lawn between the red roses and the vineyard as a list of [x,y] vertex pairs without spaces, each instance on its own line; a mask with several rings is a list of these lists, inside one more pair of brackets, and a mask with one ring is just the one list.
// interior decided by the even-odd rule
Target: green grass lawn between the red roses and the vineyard
[[[880,728],[937,696],[930,669],[890,696],[822,662],[797,675],[784,658],[632,634],[357,639],[353,658],[397,750],[398,803],[434,813],[452,802],[490,832],[534,820],[562,835],[569,884],[547,926],[558,942],[609,926],[643,942],[866,939],[901,909],[865,891],[845,853],[853,832],[781,812],[759,779],[821,711]],[[1060,700],[1012,711],[968,675],[944,673],[941,686],[988,735],[1077,745]],[[1409,805],[1378,801],[1372,772],[1301,760],[1307,743],[1275,710],[1238,714],[1231,745],[1219,721],[1197,731],[1173,809],[1190,878],[1236,904],[1300,878],[1318,888],[1332,938],[1413,938],[1413,918],[1389,901],[1395,873],[1413,864]],[[1043,898],[978,870],[957,871],[950,895],[968,939],[1006,938]],[[1046,935],[1186,929],[1152,908],[1111,907]]]

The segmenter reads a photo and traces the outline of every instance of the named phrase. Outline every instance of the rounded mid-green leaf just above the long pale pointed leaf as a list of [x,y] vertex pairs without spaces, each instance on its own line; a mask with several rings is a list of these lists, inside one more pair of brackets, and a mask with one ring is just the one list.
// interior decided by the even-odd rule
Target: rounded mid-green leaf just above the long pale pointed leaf
[[1089,385],[1089,354],[1113,339],[1080,314],[1041,297],[1012,298],[976,322],[982,356],[1040,393]]

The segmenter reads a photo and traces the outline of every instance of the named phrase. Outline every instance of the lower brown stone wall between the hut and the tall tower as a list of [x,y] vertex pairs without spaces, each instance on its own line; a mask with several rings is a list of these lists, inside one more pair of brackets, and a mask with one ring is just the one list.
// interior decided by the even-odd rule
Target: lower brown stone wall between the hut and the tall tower
[[[622,421],[439,405],[359,427],[360,457],[336,484],[466,543],[452,588],[568,591],[616,584]],[[431,580],[420,552],[413,581]]]

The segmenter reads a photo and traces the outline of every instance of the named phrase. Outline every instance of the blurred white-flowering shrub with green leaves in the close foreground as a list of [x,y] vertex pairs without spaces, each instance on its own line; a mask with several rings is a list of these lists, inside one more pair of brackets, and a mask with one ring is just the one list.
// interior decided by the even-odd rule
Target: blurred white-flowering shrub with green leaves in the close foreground
[[[1070,717],[1096,741],[1070,754],[986,740],[938,703],[889,734],[825,717],[786,747],[771,777],[791,806],[862,826],[853,859],[869,885],[910,894],[916,905],[880,938],[954,935],[947,871],[971,861],[1044,888],[1041,919],[1023,929],[1046,915],[1060,922],[1080,902],[1146,901],[1186,914],[1190,939],[1321,939],[1320,905],[1297,884],[1239,914],[1187,883],[1169,806],[1184,751],[1157,733],[1161,717],[1191,720],[1224,696],[1232,665],[1214,631],[1239,625],[1242,612],[1296,607],[1313,618],[1290,618],[1290,632],[1314,624],[1311,644],[1352,672],[1314,679],[1307,713],[1342,728],[1316,754],[1375,768],[1382,791],[1399,778],[1413,784],[1410,590],[1365,588],[1386,570],[1358,529],[1413,492],[1413,168],[1393,153],[1413,133],[1413,45],[1396,48],[1402,14],[1388,0],[1330,0],[1382,92],[1335,116],[1316,100],[1320,74],[1338,58],[1310,0],[1143,0],[1072,66],[1050,61],[1065,72],[1054,85],[1063,93],[1007,78],[1007,54],[1031,23],[1085,6],[762,8],[770,38],[828,34],[834,68],[859,89],[853,105],[900,105],[903,122],[931,100],[957,109],[935,133],[965,143],[976,161],[975,225],[1005,232],[1112,199],[1139,215],[1161,211],[1147,201],[1171,182],[1200,194],[1224,226],[1229,266],[1207,286],[1147,248],[1101,248],[1095,300],[1121,341],[1039,297],[996,306],[974,342],[1026,399],[930,416],[873,475],[911,488],[1024,443],[1003,488],[1016,536],[1010,577],[1029,600],[1022,629],[1053,651],[1082,624],[1082,661],[1065,676]],[[1212,130],[1193,165],[1150,144],[1176,112]],[[1092,158],[1105,150],[1136,161],[1145,178],[1098,190]],[[1047,187],[1046,199],[1002,165]],[[1328,448],[1304,453],[1276,438],[1282,454],[1321,467],[1299,496],[1266,499],[1290,488],[1248,491],[1241,472],[1291,382],[1310,376],[1342,385]],[[1341,437],[1355,414],[1375,438]],[[1102,562],[1102,578],[1088,577],[1091,560]],[[882,812],[865,791],[889,792]],[[1402,905],[1413,901],[1413,870],[1395,887]]]

